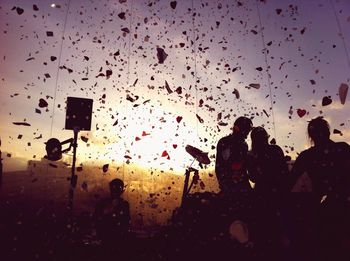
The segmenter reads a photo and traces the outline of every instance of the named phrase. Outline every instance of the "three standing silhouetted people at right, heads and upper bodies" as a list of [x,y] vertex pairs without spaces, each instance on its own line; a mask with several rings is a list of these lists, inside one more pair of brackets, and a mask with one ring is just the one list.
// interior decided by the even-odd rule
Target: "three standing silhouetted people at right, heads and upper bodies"
[[[251,137],[251,150],[245,142]],[[309,191],[329,200],[350,191],[350,146],[330,139],[329,125],[322,117],[312,119],[308,134],[314,144],[297,157],[289,172],[286,157],[276,144],[269,144],[269,135],[254,127],[246,117],[239,117],[232,134],[219,140],[215,171],[221,192],[230,197],[234,192],[292,191],[298,180],[307,175]],[[255,183],[254,188],[249,180]]]

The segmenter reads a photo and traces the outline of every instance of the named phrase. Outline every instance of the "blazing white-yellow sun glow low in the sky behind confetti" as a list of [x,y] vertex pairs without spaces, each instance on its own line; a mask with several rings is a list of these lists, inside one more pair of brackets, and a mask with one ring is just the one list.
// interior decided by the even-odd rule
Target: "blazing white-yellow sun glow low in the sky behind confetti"
[[131,113],[137,115],[137,120],[135,116],[128,115],[122,117],[119,128],[111,126],[103,131],[93,131],[89,135],[91,143],[79,145],[79,160],[124,162],[141,168],[174,172],[183,172],[191,164],[193,159],[185,151],[185,146],[200,146],[192,115],[177,118],[160,110],[150,114],[146,108],[138,108]]

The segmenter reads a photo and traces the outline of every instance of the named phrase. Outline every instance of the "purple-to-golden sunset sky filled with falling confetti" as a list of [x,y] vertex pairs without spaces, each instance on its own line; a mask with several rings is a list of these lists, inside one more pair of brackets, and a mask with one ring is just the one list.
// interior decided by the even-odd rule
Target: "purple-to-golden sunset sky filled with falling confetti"
[[90,164],[183,172],[191,144],[212,168],[241,115],[294,158],[320,115],[342,132],[332,139],[350,142],[349,97],[338,94],[350,82],[348,0],[0,0],[0,28],[5,171],[7,153],[40,160],[45,141],[73,135],[63,130],[67,96],[94,100],[78,146]]

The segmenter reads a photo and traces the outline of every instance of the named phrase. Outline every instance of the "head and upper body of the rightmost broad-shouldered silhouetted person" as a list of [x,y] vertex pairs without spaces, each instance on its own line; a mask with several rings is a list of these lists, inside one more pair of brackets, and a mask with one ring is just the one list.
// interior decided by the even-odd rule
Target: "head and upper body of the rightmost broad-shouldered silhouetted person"
[[350,146],[330,139],[329,125],[322,117],[312,119],[308,134],[314,144],[296,159],[293,184],[303,174],[311,179],[312,192],[321,200],[348,195],[350,192]]

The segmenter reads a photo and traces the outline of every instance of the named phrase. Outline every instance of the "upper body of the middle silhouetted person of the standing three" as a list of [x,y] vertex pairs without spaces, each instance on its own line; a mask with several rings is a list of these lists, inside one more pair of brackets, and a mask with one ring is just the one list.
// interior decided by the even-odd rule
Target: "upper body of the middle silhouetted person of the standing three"
[[249,179],[255,183],[254,191],[285,191],[287,164],[282,149],[269,144],[269,135],[263,127],[254,128],[250,137],[252,150],[248,153],[247,169]]

